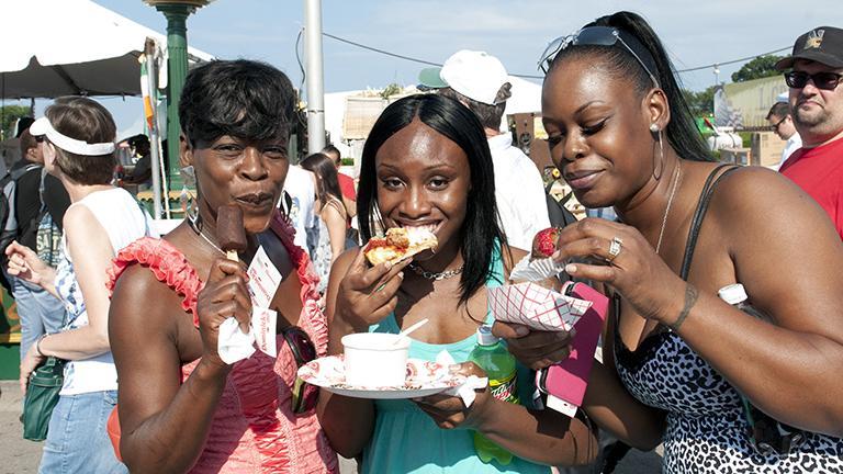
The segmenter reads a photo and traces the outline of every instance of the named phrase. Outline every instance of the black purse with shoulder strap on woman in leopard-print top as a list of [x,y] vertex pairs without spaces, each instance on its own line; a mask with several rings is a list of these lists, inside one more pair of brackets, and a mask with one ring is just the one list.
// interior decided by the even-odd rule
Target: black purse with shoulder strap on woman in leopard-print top
[[[690,222],[690,230],[688,232],[688,240],[685,245],[685,256],[679,272],[679,276],[685,281],[688,279],[690,262],[694,259],[694,249],[697,246],[699,227],[702,225],[702,218],[708,211],[708,204],[715,193],[715,188],[721,178],[740,168],[732,167],[724,170],[720,176],[717,176],[718,171],[726,166],[728,165],[721,165],[715,168],[702,187],[702,193],[699,196],[697,208],[694,212],[694,218]],[[755,317],[765,318],[763,315],[757,314],[757,311],[754,308],[744,312]],[[798,448],[805,441],[805,432],[772,418],[769,415],[753,406],[742,394],[741,402],[743,405],[743,416],[746,421],[746,435],[750,440],[752,440],[752,444],[757,452],[762,454],[775,453],[778,455],[787,455],[793,449]]]

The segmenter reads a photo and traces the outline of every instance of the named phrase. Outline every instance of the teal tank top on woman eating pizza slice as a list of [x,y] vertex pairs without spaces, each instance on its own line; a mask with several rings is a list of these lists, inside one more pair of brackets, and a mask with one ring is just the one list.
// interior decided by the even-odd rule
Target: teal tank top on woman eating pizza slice
[[[492,276],[486,287],[499,286],[504,281],[504,264],[501,247],[495,246],[492,258]],[[486,312],[485,321],[493,321],[492,312]],[[395,315],[390,314],[381,323],[369,327],[370,332],[400,332]],[[434,361],[447,350],[457,362],[469,359],[474,349],[474,335],[457,342],[430,345],[412,340],[409,357]],[[529,369],[518,364],[518,399],[530,406],[535,392],[535,380]],[[467,429],[443,430],[409,400],[375,400],[375,422],[369,444],[363,451],[360,472],[363,474],[432,474],[432,473],[549,473],[550,467],[533,464],[513,456],[508,465],[497,461],[483,463],[474,451],[473,431]]]

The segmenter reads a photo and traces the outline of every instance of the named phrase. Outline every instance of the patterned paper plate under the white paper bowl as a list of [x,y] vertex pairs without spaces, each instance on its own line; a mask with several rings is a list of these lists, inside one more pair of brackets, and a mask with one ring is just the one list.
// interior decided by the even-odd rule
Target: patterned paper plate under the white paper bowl
[[416,398],[445,392],[465,381],[451,374],[447,365],[419,359],[407,360],[407,379],[401,386],[355,386],[346,383],[342,356],[328,356],[307,362],[299,369],[299,377],[311,385],[337,395],[357,398]]

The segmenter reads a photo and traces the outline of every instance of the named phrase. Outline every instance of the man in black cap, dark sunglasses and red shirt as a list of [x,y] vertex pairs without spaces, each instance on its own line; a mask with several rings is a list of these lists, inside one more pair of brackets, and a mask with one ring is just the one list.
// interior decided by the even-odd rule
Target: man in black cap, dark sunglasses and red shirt
[[799,36],[776,68],[790,69],[788,103],[802,138],[779,171],[825,210],[843,238],[843,30],[819,26]]

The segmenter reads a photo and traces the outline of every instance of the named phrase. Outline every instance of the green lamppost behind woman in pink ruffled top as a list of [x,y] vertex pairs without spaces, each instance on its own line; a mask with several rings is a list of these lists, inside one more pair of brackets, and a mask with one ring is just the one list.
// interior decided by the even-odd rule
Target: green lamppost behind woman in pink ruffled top
[[[167,154],[169,188],[181,187],[179,174],[179,99],[188,77],[188,16],[213,0],[144,0],[167,18]],[[169,199],[165,196],[165,199]]]

